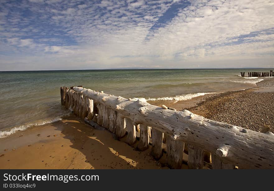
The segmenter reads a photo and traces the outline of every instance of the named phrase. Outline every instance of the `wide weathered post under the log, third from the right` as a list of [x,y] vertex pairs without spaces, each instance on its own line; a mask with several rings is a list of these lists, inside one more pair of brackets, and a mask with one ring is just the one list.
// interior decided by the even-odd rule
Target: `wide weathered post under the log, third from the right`
[[181,169],[185,143],[167,136],[167,164],[173,169]]

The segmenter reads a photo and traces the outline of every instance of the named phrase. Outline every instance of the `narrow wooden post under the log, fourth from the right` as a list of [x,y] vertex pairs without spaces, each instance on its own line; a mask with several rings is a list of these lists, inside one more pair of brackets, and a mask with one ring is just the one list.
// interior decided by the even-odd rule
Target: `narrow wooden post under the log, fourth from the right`
[[158,131],[156,128],[152,127],[151,138],[152,138],[151,155],[156,160],[158,160],[162,156],[163,133],[161,131]]

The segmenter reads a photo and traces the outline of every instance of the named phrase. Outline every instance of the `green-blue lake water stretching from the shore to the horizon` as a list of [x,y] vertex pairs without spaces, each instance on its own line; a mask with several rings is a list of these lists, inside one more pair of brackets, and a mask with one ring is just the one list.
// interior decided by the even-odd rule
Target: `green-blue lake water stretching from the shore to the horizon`
[[[269,69],[148,69],[0,72],[0,137],[59,120],[60,86],[82,85],[125,98],[185,100],[201,94],[239,90],[263,78],[240,72]],[[8,133],[9,132],[9,133]]]

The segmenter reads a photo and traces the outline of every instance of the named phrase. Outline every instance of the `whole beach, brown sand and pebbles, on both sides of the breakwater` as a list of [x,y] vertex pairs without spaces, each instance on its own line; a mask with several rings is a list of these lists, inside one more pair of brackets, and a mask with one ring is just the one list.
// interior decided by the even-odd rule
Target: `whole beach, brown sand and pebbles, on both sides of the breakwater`
[[[273,79],[256,88],[195,97],[191,100],[149,101],[177,110],[189,109],[206,118],[273,132]],[[28,128],[0,139],[1,169],[168,169],[165,153],[159,161],[137,151],[107,130],[97,130],[73,114],[47,125]],[[182,169],[187,169],[184,154]]]

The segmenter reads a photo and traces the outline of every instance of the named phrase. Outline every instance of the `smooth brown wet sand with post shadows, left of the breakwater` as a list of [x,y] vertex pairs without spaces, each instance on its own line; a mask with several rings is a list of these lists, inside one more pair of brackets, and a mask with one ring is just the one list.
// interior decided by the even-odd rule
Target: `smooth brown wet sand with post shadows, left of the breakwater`
[[150,149],[136,151],[75,117],[17,132],[0,145],[1,169],[167,168],[155,162]]

